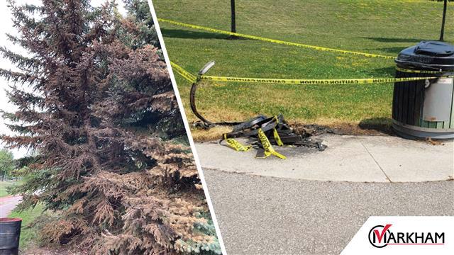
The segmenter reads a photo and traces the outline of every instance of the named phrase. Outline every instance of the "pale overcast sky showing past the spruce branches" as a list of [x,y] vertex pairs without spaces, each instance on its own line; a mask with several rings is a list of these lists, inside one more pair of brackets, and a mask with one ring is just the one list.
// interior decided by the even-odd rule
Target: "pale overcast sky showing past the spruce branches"
[[[21,3],[24,4],[40,4],[40,0],[22,0]],[[100,6],[104,4],[106,0],[92,0],[92,6]],[[123,8],[123,2],[121,0],[117,0],[118,3],[118,11],[123,15],[126,15],[126,11]],[[16,45],[13,45],[9,40],[6,40],[6,33],[16,34],[16,31],[13,28],[13,22],[11,21],[11,12],[7,6],[5,0],[0,0],[0,46],[4,46],[14,52],[23,53],[23,49]],[[16,68],[9,62],[9,60],[5,60],[3,57],[0,56],[0,68],[3,69],[11,69],[15,70]],[[12,112],[14,111],[15,107],[8,103],[8,98],[6,98],[6,93],[4,91],[5,88],[8,88],[8,82],[3,78],[0,77],[0,108],[4,111]],[[0,116],[0,134],[6,135],[13,135],[6,125],[4,124],[4,120]],[[0,147],[3,145],[0,144]],[[13,151],[15,158],[23,157],[27,154],[26,149],[14,150]]]

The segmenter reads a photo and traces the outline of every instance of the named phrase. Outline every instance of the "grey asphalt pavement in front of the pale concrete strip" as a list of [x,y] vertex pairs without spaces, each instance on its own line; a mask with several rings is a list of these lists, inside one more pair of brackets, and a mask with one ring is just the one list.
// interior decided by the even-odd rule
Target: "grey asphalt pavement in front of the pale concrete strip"
[[301,181],[204,169],[228,254],[339,254],[372,215],[454,215],[454,181]]

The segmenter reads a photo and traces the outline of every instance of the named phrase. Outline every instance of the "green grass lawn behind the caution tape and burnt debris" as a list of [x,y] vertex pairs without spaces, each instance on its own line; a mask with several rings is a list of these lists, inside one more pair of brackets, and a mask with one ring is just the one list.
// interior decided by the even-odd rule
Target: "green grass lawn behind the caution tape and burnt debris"
[[[155,0],[158,18],[230,30],[230,1]],[[391,0],[236,1],[237,31],[265,38],[395,56],[421,40],[437,40],[443,4]],[[454,4],[448,4],[445,39],[454,43]],[[338,55],[256,40],[226,40],[160,23],[170,60],[196,72],[209,60],[207,75],[289,79],[394,77],[394,62]],[[189,121],[188,81],[176,74]],[[299,123],[386,123],[392,84],[277,85],[204,84],[199,111],[209,120],[245,120],[283,113]]]

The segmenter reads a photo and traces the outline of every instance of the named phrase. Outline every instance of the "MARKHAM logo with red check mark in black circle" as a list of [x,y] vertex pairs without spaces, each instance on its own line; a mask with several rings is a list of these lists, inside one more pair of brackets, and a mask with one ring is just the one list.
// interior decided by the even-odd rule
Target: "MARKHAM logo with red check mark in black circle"
[[372,246],[383,248],[387,245],[443,245],[445,233],[441,232],[391,232],[391,224],[377,225],[369,232]]

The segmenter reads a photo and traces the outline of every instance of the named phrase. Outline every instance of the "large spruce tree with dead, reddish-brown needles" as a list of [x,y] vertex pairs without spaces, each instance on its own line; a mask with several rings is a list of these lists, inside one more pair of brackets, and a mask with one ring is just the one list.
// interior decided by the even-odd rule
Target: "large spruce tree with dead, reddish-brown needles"
[[18,30],[9,39],[27,53],[1,48],[19,70],[0,69],[18,109],[4,113],[18,135],[1,140],[34,152],[15,192],[20,208],[50,212],[38,224],[42,243],[220,254],[190,149],[168,139],[184,130],[165,63],[134,13],[146,1],[128,1],[128,18],[114,3],[9,4]]

